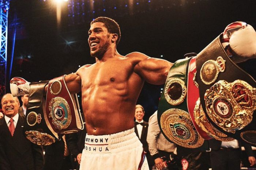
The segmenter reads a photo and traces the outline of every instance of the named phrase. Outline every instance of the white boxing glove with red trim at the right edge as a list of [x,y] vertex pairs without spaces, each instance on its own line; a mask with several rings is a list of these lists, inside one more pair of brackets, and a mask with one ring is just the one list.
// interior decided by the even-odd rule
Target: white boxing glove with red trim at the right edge
[[256,58],[256,32],[253,27],[245,22],[234,22],[229,24],[222,39],[222,45],[229,45],[235,63]]

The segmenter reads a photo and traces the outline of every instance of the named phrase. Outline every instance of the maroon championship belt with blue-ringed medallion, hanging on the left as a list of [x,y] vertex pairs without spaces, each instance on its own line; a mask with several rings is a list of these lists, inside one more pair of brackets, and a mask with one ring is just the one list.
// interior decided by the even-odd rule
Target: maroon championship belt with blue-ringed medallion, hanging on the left
[[48,127],[58,134],[75,133],[84,128],[76,94],[70,94],[65,75],[50,80],[46,96]]

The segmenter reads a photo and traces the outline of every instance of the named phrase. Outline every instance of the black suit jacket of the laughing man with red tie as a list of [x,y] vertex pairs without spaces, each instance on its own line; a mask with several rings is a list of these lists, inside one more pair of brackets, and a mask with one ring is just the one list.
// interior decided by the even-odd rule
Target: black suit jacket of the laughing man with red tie
[[31,143],[23,134],[25,118],[19,116],[14,136],[4,117],[0,118],[0,170],[42,170],[42,147]]

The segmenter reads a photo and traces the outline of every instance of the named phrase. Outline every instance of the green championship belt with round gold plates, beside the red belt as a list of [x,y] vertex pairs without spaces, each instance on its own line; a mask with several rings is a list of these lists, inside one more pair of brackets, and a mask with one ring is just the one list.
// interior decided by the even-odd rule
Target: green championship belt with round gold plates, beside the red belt
[[158,124],[165,138],[186,148],[203,145],[188,113],[187,72],[190,58],[176,61],[169,71],[158,106]]

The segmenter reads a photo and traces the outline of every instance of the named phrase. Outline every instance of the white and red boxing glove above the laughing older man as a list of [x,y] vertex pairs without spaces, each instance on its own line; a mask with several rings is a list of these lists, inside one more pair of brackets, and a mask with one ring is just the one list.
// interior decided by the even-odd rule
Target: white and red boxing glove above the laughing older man
[[27,82],[23,78],[14,77],[10,80],[10,89],[14,97],[29,94],[30,82]]

